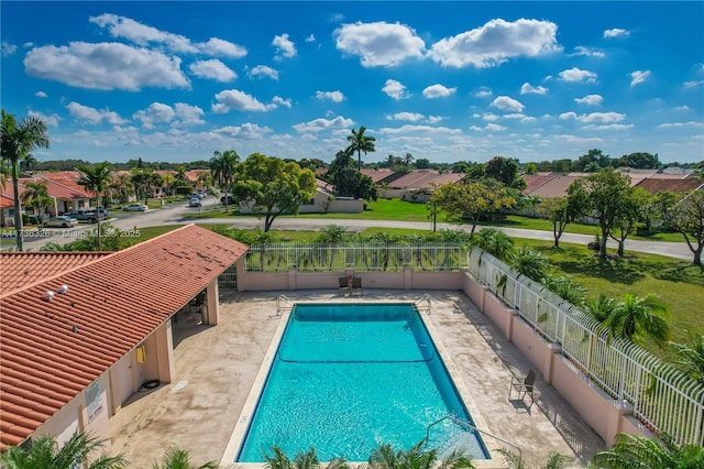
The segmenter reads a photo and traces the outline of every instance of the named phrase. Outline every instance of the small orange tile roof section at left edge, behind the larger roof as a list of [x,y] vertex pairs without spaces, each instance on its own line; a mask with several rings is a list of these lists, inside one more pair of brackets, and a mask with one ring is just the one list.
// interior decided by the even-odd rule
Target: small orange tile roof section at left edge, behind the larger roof
[[109,252],[0,252],[1,295],[108,254]]

